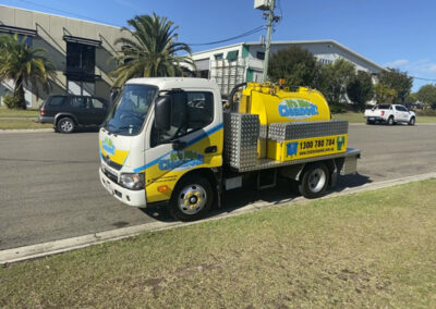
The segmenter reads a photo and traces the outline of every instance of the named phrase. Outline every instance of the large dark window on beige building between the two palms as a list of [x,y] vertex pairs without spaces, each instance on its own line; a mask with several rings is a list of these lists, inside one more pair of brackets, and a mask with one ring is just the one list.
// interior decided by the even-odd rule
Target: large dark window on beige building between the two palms
[[95,81],[95,47],[77,42],[66,42],[66,75],[70,81]]

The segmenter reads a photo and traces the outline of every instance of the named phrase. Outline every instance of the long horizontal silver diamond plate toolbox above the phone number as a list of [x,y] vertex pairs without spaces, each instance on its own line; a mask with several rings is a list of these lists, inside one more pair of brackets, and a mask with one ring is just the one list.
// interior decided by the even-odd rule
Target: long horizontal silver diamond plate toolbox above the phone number
[[347,133],[348,121],[344,120],[271,123],[268,126],[268,138],[277,141]]

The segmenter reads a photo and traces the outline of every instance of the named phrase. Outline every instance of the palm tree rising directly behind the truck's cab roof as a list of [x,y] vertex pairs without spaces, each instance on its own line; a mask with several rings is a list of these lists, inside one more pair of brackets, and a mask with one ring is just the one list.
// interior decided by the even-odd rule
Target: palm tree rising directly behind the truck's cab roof
[[[114,59],[118,69],[110,73],[114,77],[114,87],[120,87],[133,77],[181,76],[185,69],[182,63],[195,67],[191,59],[191,48],[184,42],[175,42],[178,27],[167,17],[150,15],[135,16],[123,27],[130,38],[119,38],[116,44],[122,45],[122,51]],[[189,55],[177,55],[178,52]]]

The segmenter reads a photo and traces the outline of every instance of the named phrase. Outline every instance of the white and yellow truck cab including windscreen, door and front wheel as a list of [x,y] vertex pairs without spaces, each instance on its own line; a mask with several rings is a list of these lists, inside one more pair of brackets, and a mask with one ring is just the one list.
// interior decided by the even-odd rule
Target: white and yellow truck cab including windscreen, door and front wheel
[[207,211],[222,165],[220,102],[207,79],[129,81],[99,133],[101,184],[130,206],[168,201],[177,189],[184,194],[174,215]]

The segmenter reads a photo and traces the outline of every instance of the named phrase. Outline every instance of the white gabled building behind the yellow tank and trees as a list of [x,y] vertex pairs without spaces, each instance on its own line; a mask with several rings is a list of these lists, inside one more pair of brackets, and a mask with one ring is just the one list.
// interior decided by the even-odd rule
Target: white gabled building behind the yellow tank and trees
[[[324,64],[342,58],[352,62],[356,70],[374,75],[385,70],[335,40],[276,41],[271,42],[270,52],[292,46],[308,50]],[[264,58],[265,47],[261,42],[241,42],[193,54],[199,76],[215,79],[223,95],[235,84],[263,82]]]

